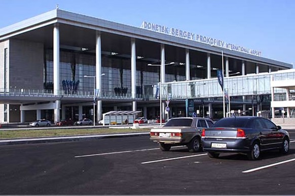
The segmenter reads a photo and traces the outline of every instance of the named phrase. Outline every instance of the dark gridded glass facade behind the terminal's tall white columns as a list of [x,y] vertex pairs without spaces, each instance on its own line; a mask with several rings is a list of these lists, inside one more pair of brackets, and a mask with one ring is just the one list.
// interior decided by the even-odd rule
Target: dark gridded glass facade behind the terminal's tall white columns
[[[131,96],[131,61],[130,58],[102,56],[101,90],[104,95],[116,95],[116,89],[125,88],[126,94]],[[137,63],[136,67],[136,95],[142,98],[143,86],[160,81],[160,67],[148,67]],[[174,68],[177,69],[177,68]],[[63,81],[79,81],[79,91],[93,92],[93,77],[95,76],[95,54],[60,51],[60,89]],[[184,81],[185,75],[166,74],[166,81]],[[53,51],[46,51],[44,66],[44,88],[53,89]]]

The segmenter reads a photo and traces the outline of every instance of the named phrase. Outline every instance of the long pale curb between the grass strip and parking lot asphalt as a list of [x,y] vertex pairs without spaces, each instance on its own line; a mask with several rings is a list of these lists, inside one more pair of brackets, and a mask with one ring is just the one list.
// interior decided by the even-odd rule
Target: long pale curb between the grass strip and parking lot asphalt
[[49,142],[62,142],[62,141],[81,141],[81,140],[117,138],[117,137],[136,137],[136,136],[147,136],[147,135],[150,135],[150,132],[101,134],[101,135],[78,135],[78,136],[60,136],[60,137],[39,137],[39,138],[19,138],[19,139],[0,139],[0,145],[49,143]]

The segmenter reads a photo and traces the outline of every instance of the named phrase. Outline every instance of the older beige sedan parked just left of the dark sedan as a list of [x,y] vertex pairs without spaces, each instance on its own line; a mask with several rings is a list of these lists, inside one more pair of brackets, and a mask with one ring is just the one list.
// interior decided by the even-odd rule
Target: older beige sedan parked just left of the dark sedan
[[173,145],[187,145],[190,152],[198,152],[202,150],[202,129],[212,125],[209,118],[172,118],[163,127],[151,129],[150,139],[159,143],[162,151],[169,151]]

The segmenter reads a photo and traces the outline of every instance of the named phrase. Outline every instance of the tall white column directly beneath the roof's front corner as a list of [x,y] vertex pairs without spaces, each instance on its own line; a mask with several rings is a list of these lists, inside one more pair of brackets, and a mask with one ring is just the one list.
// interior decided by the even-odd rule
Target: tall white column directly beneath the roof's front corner
[[[54,24],[53,28],[53,90],[55,95],[59,95],[59,25]],[[54,109],[54,122],[60,120],[60,101],[56,100],[56,108]],[[38,115],[37,115],[38,116]]]

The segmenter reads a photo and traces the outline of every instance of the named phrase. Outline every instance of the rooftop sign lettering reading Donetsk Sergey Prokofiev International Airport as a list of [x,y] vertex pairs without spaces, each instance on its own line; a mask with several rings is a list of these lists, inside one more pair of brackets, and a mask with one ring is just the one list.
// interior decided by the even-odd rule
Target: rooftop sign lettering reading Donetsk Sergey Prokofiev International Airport
[[169,27],[166,27],[163,25],[158,25],[158,24],[145,22],[145,21],[142,22],[140,28],[159,32],[159,33],[164,33],[167,35],[172,35],[175,37],[180,37],[183,39],[189,39],[189,40],[198,41],[201,43],[206,43],[206,44],[210,44],[210,45],[214,45],[214,46],[218,46],[218,47],[223,47],[223,48],[227,48],[228,50],[232,50],[232,51],[238,51],[238,52],[247,53],[250,55],[261,56],[260,51],[252,50],[252,49],[242,47],[242,46],[232,44],[232,43],[226,43],[225,41],[222,41],[219,39],[214,39],[211,37],[199,35],[199,34],[188,32],[188,31],[183,31],[183,30],[176,29],[176,28],[169,28]]

